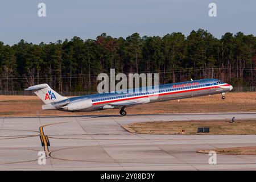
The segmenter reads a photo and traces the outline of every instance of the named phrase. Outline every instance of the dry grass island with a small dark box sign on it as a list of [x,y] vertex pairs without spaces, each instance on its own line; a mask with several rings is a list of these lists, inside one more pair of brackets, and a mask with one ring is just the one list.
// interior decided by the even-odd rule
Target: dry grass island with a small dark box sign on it
[[[210,133],[220,135],[254,135],[256,134],[255,120],[230,121],[158,121],[141,122],[124,125],[127,131],[137,134],[180,134],[180,130],[185,130],[184,134],[199,134],[197,127],[210,127]],[[200,133],[203,134],[203,133]]]

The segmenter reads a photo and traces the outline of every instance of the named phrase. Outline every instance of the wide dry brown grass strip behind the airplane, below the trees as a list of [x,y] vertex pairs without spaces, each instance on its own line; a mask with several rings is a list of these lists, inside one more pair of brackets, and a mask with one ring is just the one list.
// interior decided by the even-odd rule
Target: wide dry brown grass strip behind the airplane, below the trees
[[[43,102],[36,96],[0,96],[0,115],[80,115],[119,114],[116,109],[100,112],[70,113],[57,110],[42,110]],[[227,93],[226,100],[221,95],[187,98],[183,100],[157,102],[126,109],[128,114],[159,113],[214,113],[256,111],[256,92]]]

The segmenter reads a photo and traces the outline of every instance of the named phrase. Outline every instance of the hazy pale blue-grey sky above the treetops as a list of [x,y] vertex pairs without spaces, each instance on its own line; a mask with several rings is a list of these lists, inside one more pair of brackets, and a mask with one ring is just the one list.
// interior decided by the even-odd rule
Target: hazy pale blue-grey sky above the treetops
[[[46,17],[38,16],[38,4],[46,4]],[[208,15],[209,3],[217,5],[217,17]],[[217,38],[225,32],[256,35],[255,0],[1,0],[0,41],[13,45],[56,42],[79,36],[95,39],[106,32],[118,38],[138,32],[163,36],[204,28]]]

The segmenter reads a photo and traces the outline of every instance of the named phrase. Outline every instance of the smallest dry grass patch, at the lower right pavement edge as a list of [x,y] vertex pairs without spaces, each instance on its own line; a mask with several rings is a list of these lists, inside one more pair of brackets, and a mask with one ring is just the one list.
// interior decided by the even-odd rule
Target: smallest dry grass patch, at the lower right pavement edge
[[256,146],[233,147],[233,148],[214,148],[214,149],[209,149],[209,150],[199,150],[197,152],[208,154],[209,151],[215,151],[217,154],[256,155]]

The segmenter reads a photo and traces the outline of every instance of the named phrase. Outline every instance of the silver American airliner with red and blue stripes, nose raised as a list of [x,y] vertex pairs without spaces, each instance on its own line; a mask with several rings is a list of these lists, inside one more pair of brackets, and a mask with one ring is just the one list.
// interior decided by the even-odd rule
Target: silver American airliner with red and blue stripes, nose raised
[[[153,89],[152,89],[153,88]],[[99,93],[86,96],[64,97],[55,92],[48,84],[30,86],[24,90],[34,90],[34,93],[44,102],[43,110],[61,110],[72,112],[85,112],[103,109],[120,109],[121,115],[126,115],[125,107],[140,104],[179,100],[182,98],[222,94],[229,92],[233,86],[218,79],[201,79],[174,84],[158,85],[158,89],[152,87],[139,88],[137,92],[126,90],[126,93],[115,91],[114,93]],[[143,91],[146,90],[146,91]],[[133,92],[129,92],[133,91]]]

